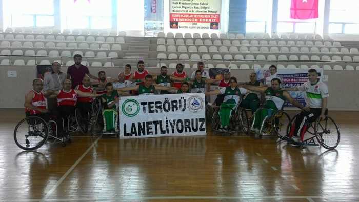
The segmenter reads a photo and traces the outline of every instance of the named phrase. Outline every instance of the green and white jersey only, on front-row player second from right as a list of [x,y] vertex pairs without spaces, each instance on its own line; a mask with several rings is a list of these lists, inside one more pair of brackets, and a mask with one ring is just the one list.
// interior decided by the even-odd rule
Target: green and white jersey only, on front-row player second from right
[[283,92],[281,90],[273,90],[272,87],[268,87],[264,92],[266,102],[264,103],[264,108],[279,110],[282,109],[283,104],[286,101],[286,98],[283,96]]

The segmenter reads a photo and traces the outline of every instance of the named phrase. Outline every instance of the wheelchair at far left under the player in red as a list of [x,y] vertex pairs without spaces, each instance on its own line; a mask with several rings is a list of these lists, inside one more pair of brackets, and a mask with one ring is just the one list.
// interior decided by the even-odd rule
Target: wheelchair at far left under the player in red
[[61,142],[62,146],[66,145],[66,141],[71,142],[68,136],[58,136],[57,124],[54,120],[46,122],[39,116],[27,116],[22,119],[14,129],[14,140],[23,150],[35,150],[47,142]]

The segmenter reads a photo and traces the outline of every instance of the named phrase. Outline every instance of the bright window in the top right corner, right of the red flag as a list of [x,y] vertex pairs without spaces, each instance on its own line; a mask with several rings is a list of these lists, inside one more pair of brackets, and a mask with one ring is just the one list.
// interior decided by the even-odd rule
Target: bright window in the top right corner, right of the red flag
[[359,33],[359,4],[357,0],[330,1],[329,33]]

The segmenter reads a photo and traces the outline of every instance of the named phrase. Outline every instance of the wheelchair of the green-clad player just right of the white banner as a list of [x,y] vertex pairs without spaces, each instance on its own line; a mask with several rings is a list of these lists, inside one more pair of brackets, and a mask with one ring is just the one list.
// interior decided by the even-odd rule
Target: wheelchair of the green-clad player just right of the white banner
[[231,112],[232,114],[229,120],[229,131],[218,131],[218,128],[221,126],[221,119],[219,114],[220,108],[220,106],[215,106],[213,108],[213,115],[211,120],[211,127],[213,131],[224,133],[248,132],[248,113],[245,108],[240,107],[240,104],[237,104],[237,106]]

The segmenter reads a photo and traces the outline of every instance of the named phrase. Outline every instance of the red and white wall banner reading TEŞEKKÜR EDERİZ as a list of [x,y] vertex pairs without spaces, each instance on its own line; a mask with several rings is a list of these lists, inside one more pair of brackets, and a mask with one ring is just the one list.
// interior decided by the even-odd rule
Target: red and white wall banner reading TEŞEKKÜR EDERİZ
[[170,0],[171,29],[219,29],[221,0]]

